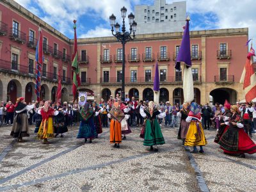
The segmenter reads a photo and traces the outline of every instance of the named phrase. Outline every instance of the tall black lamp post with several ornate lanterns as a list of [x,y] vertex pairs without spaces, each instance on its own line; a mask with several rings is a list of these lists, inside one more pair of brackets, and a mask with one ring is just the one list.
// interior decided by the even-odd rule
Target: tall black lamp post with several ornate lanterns
[[[109,17],[110,20],[110,26],[111,26],[111,31],[112,35],[116,37],[118,42],[121,42],[123,45],[123,55],[122,55],[122,101],[125,100],[125,43],[129,42],[131,40],[134,40],[135,38],[135,31],[136,31],[136,26],[137,23],[134,21],[134,15],[130,13],[128,15],[129,19],[129,25],[130,25],[130,31],[125,31],[125,16],[126,16],[127,8],[124,6],[121,9],[121,15],[123,19],[123,25],[122,25],[122,32],[120,32],[120,24],[116,22],[116,17],[115,15],[111,15]],[[114,28],[115,28],[115,33],[114,33]]]

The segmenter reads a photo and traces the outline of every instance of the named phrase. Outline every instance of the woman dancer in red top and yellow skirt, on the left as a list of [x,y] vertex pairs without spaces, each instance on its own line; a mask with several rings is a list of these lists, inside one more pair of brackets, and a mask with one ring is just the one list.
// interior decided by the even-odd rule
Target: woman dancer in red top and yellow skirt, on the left
[[44,102],[44,107],[38,110],[38,114],[42,115],[42,123],[39,127],[37,138],[44,140],[44,144],[48,143],[47,139],[54,138],[52,117],[58,115],[58,113],[59,111],[51,108],[48,100]]

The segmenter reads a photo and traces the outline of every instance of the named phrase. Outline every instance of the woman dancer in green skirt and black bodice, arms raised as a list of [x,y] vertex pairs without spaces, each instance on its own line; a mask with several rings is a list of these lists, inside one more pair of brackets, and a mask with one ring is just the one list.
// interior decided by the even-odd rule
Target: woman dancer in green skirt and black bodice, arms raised
[[160,110],[154,107],[154,102],[150,101],[148,108],[140,109],[140,114],[143,118],[146,118],[143,145],[150,146],[150,150],[157,152],[157,145],[165,143],[157,118],[164,118],[166,110],[161,113]]

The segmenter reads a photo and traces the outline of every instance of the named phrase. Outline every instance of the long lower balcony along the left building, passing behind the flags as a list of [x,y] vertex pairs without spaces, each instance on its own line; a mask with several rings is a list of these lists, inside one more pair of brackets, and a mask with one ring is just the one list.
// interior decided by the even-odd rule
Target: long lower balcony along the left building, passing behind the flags
[[[36,69],[35,68],[29,68],[28,64],[27,65],[20,65],[19,63],[15,63],[11,61],[5,61],[5,60],[0,60],[0,71],[1,72],[7,72],[9,74],[15,74],[15,75],[20,75],[20,76],[25,76],[25,77],[33,77],[35,78],[36,74]],[[57,76],[56,74],[52,74],[51,72],[45,72],[42,71],[42,79],[45,81],[50,81],[50,82],[56,82],[57,83],[57,77],[54,79],[54,76]],[[71,79],[69,77],[63,77],[61,76],[62,83],[63,84],[71,84]],[[65,81],[63,81],[65,79]]]

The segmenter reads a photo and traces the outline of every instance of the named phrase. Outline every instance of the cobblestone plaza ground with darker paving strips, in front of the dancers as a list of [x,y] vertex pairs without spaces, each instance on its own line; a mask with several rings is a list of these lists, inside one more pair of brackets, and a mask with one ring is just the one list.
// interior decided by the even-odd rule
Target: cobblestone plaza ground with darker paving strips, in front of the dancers
[[[92,143],[76,139],[78,127],[43,145],[32,134],[23,143],[0,131],[0,191],[256,191],[256,156],[226,156],[205,131],[205,154],[191,154],[177,140],[177,127],[162,127],[166,144],[150,152],[132,127],[120,148],[109,129]],[[255,141],[255,137],[253,138]]]

